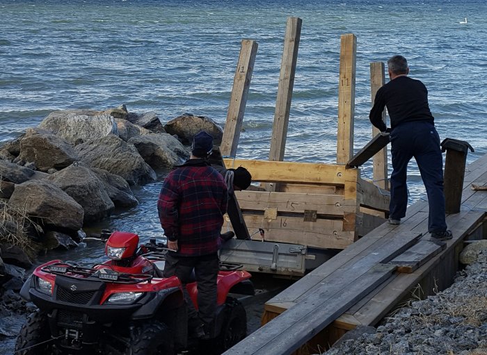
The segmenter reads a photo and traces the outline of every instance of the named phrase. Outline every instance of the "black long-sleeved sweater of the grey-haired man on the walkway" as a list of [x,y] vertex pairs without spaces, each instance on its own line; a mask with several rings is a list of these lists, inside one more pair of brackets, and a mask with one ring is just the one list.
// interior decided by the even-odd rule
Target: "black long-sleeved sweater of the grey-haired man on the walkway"
[[382,121],[384,106],[388,108],[392,129],[404,122],[428,121],[433,123],[434,121],[429,110],[426,86],[421,81],[408,76],[397,76],[383,85],[376,93],[369,119],[381,132],[386,129],[385,123]]

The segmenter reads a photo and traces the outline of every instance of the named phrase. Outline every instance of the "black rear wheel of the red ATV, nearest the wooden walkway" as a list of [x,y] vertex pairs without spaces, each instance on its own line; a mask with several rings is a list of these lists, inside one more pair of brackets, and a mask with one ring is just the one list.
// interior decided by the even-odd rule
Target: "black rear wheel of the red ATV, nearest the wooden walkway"
[[221,333],[216,337],[218,354],[230,349],[247,336],[247,313],[239,300],[228,297],[225,302],[225,322]]

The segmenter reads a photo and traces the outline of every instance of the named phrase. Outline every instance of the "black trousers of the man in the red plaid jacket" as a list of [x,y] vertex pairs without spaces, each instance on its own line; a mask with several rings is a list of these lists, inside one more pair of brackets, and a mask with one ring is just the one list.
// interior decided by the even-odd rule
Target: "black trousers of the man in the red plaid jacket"
[[[184,299],[188,305],[190,327],[196,327],[201,322],[212,324],[216,314],[216,279],[220,262],[218,255],[209,254],[203,256],[177,256],[169,252],[166,254],[164,265],[164,277],[177,276],[183,284]],[[194,276],[198,287],[198,312],[195,309],[191,297],[189,297],[186,284],[191,282]],[[199,323],[199,324],[198,324]]]

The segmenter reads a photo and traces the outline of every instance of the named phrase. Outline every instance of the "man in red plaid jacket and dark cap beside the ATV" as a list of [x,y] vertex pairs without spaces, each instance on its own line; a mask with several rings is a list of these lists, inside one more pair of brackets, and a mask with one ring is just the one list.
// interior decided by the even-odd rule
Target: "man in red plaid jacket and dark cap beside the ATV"
[[216,313],[216,279],[219,270],[223,215],[227,211],[227,186],[207,163],[213,149],[213,137],[202,131],[193,138],[191,156],[177,166],[163,182],[157,210],[168,238],[169,251],[163,274],[177,276],[186,285],[195,272],[198,284],[198,308],[189,306],[189,327],[195,336],[209,338]]

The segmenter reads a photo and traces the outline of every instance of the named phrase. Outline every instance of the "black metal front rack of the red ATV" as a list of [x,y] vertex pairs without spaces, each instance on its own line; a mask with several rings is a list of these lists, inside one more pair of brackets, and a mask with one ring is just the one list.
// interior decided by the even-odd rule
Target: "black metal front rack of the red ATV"
[[[96,268],[97,266],[103,266]],[[141,283],[152,280],[150,274],[127,274],[116,272],[108,265],[96,264],[93,267],[83,267],[70,263],[52,263],[41,269],[49,274],[62,275],[71,279],[87,279],[113,283]]]

